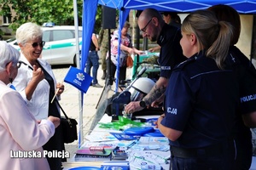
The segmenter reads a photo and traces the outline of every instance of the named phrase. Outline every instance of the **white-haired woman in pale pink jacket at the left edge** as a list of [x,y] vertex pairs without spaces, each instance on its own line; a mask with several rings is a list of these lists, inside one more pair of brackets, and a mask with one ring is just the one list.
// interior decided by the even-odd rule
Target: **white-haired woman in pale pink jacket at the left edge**
[[[38,124],[20,94],[9,88],[17,75],[19,58],[20,53],[15,48],[0,42],[1,169],[48,170],[42,145],[53,136],[60,119],[49,116]],[[27,157],[32,153],[38,157]]]

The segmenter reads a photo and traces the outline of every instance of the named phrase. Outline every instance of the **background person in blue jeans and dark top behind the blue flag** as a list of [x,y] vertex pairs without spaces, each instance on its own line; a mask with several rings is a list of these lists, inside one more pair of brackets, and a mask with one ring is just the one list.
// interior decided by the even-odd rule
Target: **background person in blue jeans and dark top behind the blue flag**
[[90,69],[92,67],[92,87],[102,88],[102,85],[98,83],[97,73],[99,69],[99,55],[98,51],[100,50],[100,46],[98,43],[98,39],[96,37],[95,29],[92,32],[91,41],[90,41],[90,49],[89,54],[86,61],[86,73],[90,75]]

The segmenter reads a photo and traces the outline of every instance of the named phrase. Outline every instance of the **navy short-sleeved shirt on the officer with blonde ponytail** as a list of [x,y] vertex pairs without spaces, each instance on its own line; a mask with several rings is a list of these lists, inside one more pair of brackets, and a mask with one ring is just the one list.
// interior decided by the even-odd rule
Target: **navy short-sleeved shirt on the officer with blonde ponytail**
[[161,124],[183,133],[170,144],[198,148],[224,141],[233,127],[238,96],[234,72],[220,70],[214,59],[195,54],[177,65],[166,88]]

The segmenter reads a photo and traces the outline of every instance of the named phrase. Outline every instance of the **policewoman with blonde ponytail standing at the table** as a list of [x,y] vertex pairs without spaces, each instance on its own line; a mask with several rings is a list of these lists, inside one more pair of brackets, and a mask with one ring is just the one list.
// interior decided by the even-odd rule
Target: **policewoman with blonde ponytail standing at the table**
[[224,65],[232,27],[200,10],[186,17],[181,30],[180,44],[189,59],[172,71],[165,114],[157,122],[170,139],[170,167],[232,169],[231,131],[239,98],[236,78]]

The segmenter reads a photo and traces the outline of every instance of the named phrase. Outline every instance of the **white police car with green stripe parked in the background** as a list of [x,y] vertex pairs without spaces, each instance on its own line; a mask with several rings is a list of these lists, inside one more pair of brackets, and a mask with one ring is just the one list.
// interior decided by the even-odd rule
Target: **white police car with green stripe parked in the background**
[[[75,26],[43,26],[45,45],[42,59],[49,65],[76,65]],[[9,42],[20,49],[16,40]],[[82,26],[79,26],[79,49],[82,45]]]

